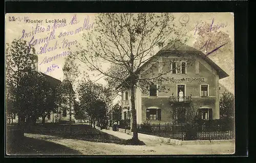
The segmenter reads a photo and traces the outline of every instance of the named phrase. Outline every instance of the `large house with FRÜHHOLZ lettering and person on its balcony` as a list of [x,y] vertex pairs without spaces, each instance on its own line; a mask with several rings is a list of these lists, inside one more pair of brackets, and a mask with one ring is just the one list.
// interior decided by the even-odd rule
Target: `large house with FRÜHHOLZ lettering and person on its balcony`
[[[141,73],[141,78],[150,81],[143,88],[135,87],[138,124],[185,123],[191,111],[202,120],[220,118],[219,80],[228,75],[201,51],[182,45],[155,62],[145,63],[141,72],[147,69],[153,75]],[[122,92],[122,119],[131,119],[131,90],[122,85],[117,89]]]

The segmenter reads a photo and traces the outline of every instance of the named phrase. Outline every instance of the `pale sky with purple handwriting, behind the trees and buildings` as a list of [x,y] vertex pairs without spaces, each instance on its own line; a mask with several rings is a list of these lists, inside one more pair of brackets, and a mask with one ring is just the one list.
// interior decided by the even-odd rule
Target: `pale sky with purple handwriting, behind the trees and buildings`
[[[229,34],[232,44],[234,44],[234,16],[233,13],[172,13],[175,16],[176,25],[186,25],[190,39],[186,43],[193,46],[197,39],[195,27],[198,23],[205,21],[209,24],[214,19],[214,25],[224,23],[225,27],[218,30]],[[97,26],[95,17],[97,13],[9,13],[6,14],[5,40],[10,43],[13,39],[23,39],[34,44],[38,56],[38,71],[50,75],[58,80],[63,80],[62,66],[65,56],[55,58],[51,62],[47,59],[58,54],[67,54],[75,51],[77,44],[84,44],[82,34],[93,32],[93,27]],[[25,20],[31,21],[25,21]],[[54,23],[54,19],[59,22]],[[37,22],[36,22],[37,21]],[[87,28],[83,28],[84,24]],[[37,31],[35,32],[35,30]],[[80,29],[80,30],[79,30]],[[47,38],[48,37],[48,38]],[[49,39],[49,41],[44,41]],[[233,48],[233,47],[232,47]],[[208,56],[212,61],[219,65],[229,77],[221,79],[219,82],[234,94],[234,54],[218,54]],[[106,84],[102,76],[93,76],[87,71],[86,65],[81,62],[80,72],[86,71],[90,79],[101,84]],[[47,72],[49,67],[54,66],[52,72]],[[106,64],[106,67],[108,64]],[[79,76],[81,79],[82,76]],[[100,78],[100,79],[99,79]]]

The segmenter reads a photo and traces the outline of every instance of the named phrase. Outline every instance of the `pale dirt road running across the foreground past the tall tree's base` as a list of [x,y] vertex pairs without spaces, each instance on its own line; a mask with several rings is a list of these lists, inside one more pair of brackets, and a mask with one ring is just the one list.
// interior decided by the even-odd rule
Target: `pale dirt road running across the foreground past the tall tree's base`
[[[146,141],[144,142],[146,144],[145,146],[128,146],[110,143],[88,142],[77,139],[63,139],[57,136],[49,135],[25,133],[25,136],[44,139],[52,143],[60,144],[77,150],[81,152],[82,155],[230,154],[234,151],[234,144],[232,143],[176,146],[154,141]],[[131,135],[127,135],[127,137],[124,138],[128,139],[130,138],[129,136]]]

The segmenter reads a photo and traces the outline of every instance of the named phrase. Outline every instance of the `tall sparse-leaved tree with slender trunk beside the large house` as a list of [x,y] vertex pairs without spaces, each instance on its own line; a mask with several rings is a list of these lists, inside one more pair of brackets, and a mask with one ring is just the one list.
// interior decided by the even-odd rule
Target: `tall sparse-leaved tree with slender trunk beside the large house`
[[[177,59],[161,60],[177,52],[189,39],[184,26],[177,27],[174,20],[170,13],[101,13],[96,18],[95,29],[83,36],[86,44],[81,47],[80,60],[92,71],[109,77],[115,85],[123,83],[122,87],[131,89],[135,141],[138,141],[135,86],[147,90],[145,85],[172,71],[172,62],[185,55],[179,52]],[[105,63],[111,66],[107,67]],[[156,74],[154,69],[158,65],[160,71]],[[179,69],[179,66],[175,68]],[[164,86],[160,88],[164,90]]]

